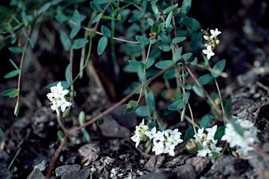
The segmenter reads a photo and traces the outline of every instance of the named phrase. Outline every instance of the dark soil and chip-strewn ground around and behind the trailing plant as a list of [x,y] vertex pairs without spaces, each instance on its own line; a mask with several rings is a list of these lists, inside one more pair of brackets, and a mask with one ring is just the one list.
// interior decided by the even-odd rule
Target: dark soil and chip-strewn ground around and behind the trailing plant
[[[221,45],[216,48],[212,62],[226,59],[225,71],[229,76],[218,80],[223,98],[232,101],[232,115],[251,120],[261,130],[260,143],[255,145],[255,150],[247,156],[227,150],[214,163],[208,157],[197,157],[184,150],[186,142],[176,148],[174,157],[146,153],[143,144],[135,148],[130,140],[135,125],[142,118],[135,114],[123,115],[123,104],[104,116],[103,124],[86,127],[90,142],[85,141],[81,132],[69,136],[51,178],[269,178],[268,1],[193,1],[193,4],[190,13],[203,27],[218,27],[222,31]],[[41,27],[53,27],[51,33],[57,34],[53,22],[41,24]],[[64,80],[69,56],[60,45],[58,35],[55,41],[48,41],[39,28],[34,32],[38,33],[38,38],[34,39],[34,50],[27,49],[18,117],[13,115],[15,99],[0,96],[0,178],[45,178],[60,145],[57,137],[60,127],[56,114],[50,110],[46,85]],[[11,54],[7,48],[0,52],[3,61],[0,91],[3,92],[18,83],[16,78],[2,77],[12,69],[9,59],[18,64],[20,55]],[[74,73],[78,73],[79,55],[80,52],[75,51]],[[111,62],[104,58],[94,53],[83,78],[74,84],[76,106],[62,119],[68,130],[79,126],[81,110],[89,121],[120,101],[130,85],[128,81],[135,78],[122,70],[118,76]],[[118,63],[124,64],[124,58]],[[158,93],[163,86],[161,80],[155,80],[151,88]],[[196,109],[195,119],[199,121],[203,115],[210,114],[207,104],[200,103],[202,99],[191,100]],[[164,110],[168,104],[169,101],[158,97],[158,109]],[[177,113],[164,117],[164,121],[183,134],[191,125],[179,122]]]

